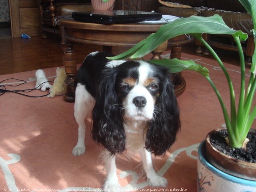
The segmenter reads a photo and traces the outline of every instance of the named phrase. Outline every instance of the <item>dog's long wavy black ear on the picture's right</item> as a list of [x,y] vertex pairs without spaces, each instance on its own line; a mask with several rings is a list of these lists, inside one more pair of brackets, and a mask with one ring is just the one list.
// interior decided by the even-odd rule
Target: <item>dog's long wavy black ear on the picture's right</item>
[[166,74],[162,80],[162,93],[155,106],[154,118],[146,133],[146,149],[162,155],[176,140],[180,128],[180,110],[174,94],[172,80]]

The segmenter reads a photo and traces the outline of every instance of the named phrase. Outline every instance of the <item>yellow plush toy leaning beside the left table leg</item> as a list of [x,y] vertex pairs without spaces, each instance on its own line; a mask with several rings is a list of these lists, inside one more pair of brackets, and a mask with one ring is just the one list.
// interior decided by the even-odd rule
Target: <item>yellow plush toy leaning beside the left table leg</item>
[[55,78],[51,88],[50,88],[50,94],[48,97],[53,98],[56,95],[63,95],[66,91],[66,73],[64,68],[57,68],[56,69],[57,77]]

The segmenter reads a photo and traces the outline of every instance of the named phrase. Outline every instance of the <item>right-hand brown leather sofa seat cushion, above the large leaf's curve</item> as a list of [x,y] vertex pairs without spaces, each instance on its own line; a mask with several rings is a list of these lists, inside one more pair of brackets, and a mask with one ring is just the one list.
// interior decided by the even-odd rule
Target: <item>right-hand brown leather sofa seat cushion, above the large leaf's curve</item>
[[247,13],[238,12],[224,12],[220,10],[204,10],[201,12],[201,16],[208,17],[218,14],[222,16],[224,22],[230,28],[234,30],[241,30],[251,36],[250,30],[253,28],[252,16]]

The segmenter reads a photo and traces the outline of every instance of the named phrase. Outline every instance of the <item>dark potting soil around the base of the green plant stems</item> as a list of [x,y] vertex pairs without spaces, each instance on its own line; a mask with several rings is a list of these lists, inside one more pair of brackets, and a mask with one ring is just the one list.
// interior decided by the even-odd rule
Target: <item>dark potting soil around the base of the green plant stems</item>
[[227,130],[215,131],[212,133],[210,142],[220,152],[234,157],[238,160],[256,163],[256,133],[249,132],[247,138],[250,140],[245,149],[231,148],[226,143],[225,138],[228,136]]

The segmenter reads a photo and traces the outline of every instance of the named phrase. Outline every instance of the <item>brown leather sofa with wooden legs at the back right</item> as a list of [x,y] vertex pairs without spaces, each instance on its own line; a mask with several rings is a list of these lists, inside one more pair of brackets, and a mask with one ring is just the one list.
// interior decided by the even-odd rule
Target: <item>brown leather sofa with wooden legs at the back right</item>
[[[252,54],[254,52],[254,37],[250,30],[253,28],[252,17],[246,13],[244,7],[238,0],[170,0],[170,2],[178,4],[170,4],[169,7],[158,4],[158,12],[178,17],[196,16],[213,16],[218,14],[222,16],[224,22],[235,30],[242,30],[248,34],[248,40],[243,42],[243,50],[246,58],[246,65],[251,65]],[[182,8],[182,5],[191,6],[190,8]],[[204,34],[204,39],[216,48],[237,51],[236,45],[231,36],[209,35]],[[198,48],[197,53],[208,55],[207,49],[202,48],[199,41],[196,41]]]

